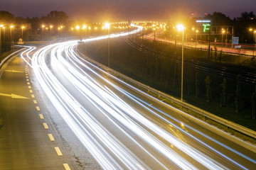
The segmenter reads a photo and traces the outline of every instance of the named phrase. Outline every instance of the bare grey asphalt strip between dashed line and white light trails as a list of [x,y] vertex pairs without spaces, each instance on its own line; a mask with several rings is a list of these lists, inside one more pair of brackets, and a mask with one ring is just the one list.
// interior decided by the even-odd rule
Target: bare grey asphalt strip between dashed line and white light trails
[[[50,64],[48,58],[46,62],[48,65]],[[53,68],[55,68],[54,64]],[[33,84],[34,94],[38,96],[38,103],[41,103],[41,111],[44,113],[44,118],[50,122],[50,132],[55,136],[56,141],[65,146],[65,155],[72,160],[72,162],[70,162],[71,169],[102,169],[55,109],[55,106],[53,106],[53,103],[51,103],[48,96],[46,96],[31,68],[29,74]],[[74,168],[72,168],[72,165]]]

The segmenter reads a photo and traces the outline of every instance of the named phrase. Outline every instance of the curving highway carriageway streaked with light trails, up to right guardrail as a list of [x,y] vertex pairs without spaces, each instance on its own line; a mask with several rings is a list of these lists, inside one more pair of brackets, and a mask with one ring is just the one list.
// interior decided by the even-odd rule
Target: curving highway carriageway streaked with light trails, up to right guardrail
[[[108,35],[83,42],[105,38]],[[75,40],[58,42],[24,60],[55,110],[102,169],[255,168],[255,152],[88,62],[76,52],[77,45]]]

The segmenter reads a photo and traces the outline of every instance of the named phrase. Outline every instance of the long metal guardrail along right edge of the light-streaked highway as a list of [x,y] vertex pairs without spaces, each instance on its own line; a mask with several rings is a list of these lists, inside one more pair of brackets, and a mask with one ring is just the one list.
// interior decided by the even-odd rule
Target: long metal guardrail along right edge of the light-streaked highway
[[[86,56],[83,55],[81,52],[79,52],[79,50],[77,50],[77,52],[78,52],[80,55],[86,57]],[[157,94],[159,97],[162,96],[162,97],[164,97],[164,98],[167,98],[167,99],[169,99],[170,101],[172,101],[172,102],[174,102],[174,103],[177,103],[177,104],[180,105],[180,106],[183,106],[184,108],[188,108],[188,109],[190,109],[191,111],[194,111],[194,112],[196,112],[196,113],[198,113],[198,114],[200,114],[200,115],[203,115],[203,116],[206,117],[206,118],[209,118],[210,120],[214,120],[215,122],[220,123],[220,124],[222,124],[222,125],[225,125],[225,126],[228,127],[228,128],[232,128],[233,130],[236,130],[236,131],[238,131],[238,132],[241,132],[241,133],[243,133],[243,134],[245,134],[245,135],[248,135],[248,136],[250,136],[250,137],[256,139],[256,132],[255,132],[254,130],[250,130],[250,129],[248,129],[248,128],[243,127],[242,125],[238,125],[237,123],[233,123],[233,122],[231,122],[231,121],[229,121],[229,120],[225,120],[224,118],[220,118],[220,117],[218,117],[217,115],[213,115],[212,113],[209,113],[209,112],[207,112],[207,111],[203,111],[203,109],[201,109],[201,108],[197,108],[196,106],[193,106],[193,105],[191,105],[191,104],[189,104],[189,103],[186,103],[186,102],[184,102],[184,101],[178,100],[177,98],[174,98],[173,96],[170,96],[169,94],[165,94],[165,93],[163,93],[163,92],[161,92],[161,91],[158,91],[158,90],[156,90],[156,89],[151,88],[150,86],[147,86],[147,85],[145,85],[145,84],[142,84],[142,83],[140,83],[139,81],[136,81],[136,80],[134,80],[134,79],[131,79],[131,78],[125,76],[124,74],[121,74],[121,73],[119,73],[119,72],[116,72],[116,71],[114,71],[113,69],[110,69],[110,68],[108,68],[108,67],[106,67],[106,66],[104,66],[104,65],[102,65],[102,64],[100,64],[100,63],[98,63],[98,62],[95,62],[94,60],[91,60],[91,59],[88,58],[88,57],[86,57],[86,58],[87,58],[88,60],[90,60],[90,62],[93,62],[94,64],[97,64],[98,66],[103,67],[104,69],[107,69],[107,70],[109,70],[110,72],[112,72],[112,73],[114,73],[114,74],[117,74],[119,77],[122,77],[123,79],[127,79],[128,81],[132,82],[133,84],[137,84],[137,86],[140,86],[140,87],[146,89],[148,92],[151,91],[151,92],[153,92],[154,94]]]

